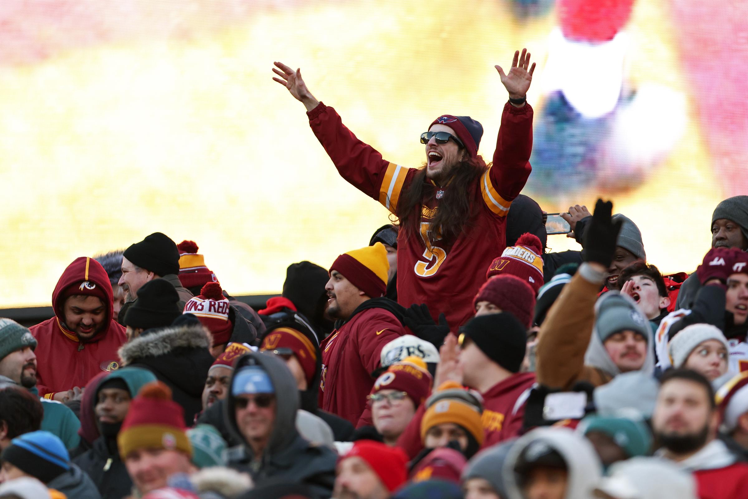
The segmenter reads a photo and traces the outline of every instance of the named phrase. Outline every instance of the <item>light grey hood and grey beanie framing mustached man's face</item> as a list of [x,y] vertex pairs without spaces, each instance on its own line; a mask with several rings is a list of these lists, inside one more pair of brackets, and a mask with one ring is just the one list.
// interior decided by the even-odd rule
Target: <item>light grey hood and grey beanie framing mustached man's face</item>
[[[620,304],[625,304],[627,310],[622,311],[624,307],[620,307]],[[610,305],[613,305],[611,307]],[[613,310],[616,308],[617,310]],[[598,324],[605,323],[606,327],[610,325],[610,321],[607,320],[606,314],[610,314],[611,320],[622,319],[622,314],[628,316],[628,321],[621,321],[621,324],[627,325],[625,329],[630,329],[637,325],[640,332],[646,334],[647,337],[647,349],[646,358],[644,359],[644,365],[639,370],[642,373],[646,373],[649,376],[654,375],[654,335],[652,334],[652,328],[649,326],[649,320],[642,313],[637,305],[636,301],[631,299],[628,295],[622,295],[618,291],[608,291],[603,296],[598,298],[595,303],[595,326],[592,328],[592,338],[589,340],[589,346],[584,354],[584,364],[591,367],[597,367],[600,370],[604,370],[611,376],[618,376],[621,374],[616,364],[613,364],[613,359],[608,355]],[[628,327],[631,326],[631,327]]]

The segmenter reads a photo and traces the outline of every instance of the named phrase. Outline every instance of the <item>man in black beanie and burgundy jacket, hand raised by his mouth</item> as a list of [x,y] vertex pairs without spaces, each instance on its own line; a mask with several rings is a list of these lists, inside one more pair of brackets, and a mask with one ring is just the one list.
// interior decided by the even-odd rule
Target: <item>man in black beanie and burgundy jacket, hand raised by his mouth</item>
[[[535,383],[534,373],[519,372],[526,349],[525,330],[512,313],[491,313],[474,317],[461,328],[459,350],[453,334],[441,347],[435,383],[452,380],[481,394],[484,449],[518,436],[522,429],[525,401]],[[421,405],[397,441],[411,458],[423,448],[419,432],[425,410]]]

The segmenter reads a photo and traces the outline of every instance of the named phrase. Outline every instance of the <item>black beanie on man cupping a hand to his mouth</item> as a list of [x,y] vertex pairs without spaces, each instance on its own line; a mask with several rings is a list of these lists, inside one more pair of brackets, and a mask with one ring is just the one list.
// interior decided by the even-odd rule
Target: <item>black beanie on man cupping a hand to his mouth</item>
[[527,349],[527,330],[511,313],[473,317],[460,331],[496,364],[519,373]]

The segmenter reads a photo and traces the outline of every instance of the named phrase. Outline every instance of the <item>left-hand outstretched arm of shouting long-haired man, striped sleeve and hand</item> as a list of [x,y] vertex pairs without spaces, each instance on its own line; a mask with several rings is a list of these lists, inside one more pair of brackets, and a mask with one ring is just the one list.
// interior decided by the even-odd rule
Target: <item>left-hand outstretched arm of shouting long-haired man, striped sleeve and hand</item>
[[307,108],[312,131],[340,176],[394,213],[409,169],[388,162],[369,144],[358,140],[334,108],[315,99],[301,78],[300,69],[294,71],[276,62],[273,72],[279,76],[273,80]]

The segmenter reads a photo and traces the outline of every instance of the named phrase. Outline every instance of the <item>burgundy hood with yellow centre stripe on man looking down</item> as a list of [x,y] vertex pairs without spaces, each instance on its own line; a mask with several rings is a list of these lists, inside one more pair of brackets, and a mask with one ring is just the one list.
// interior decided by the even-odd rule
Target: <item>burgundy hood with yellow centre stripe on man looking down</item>
[[[76,290],[70,289],[73,286],[76,287]],[[80,293],[74,293],[74,291],[80,291]],[[94,335],[87,343],[100,340],[108,330],[110,322],[114,319],[114,297],[111,283],[101,263],[89,257],[76,258],[62,272],[55,290],[52,292],[52,308],[55,310],[55,316],[57,316],[61,331],[71,340],[78,341],[78,335],[64,325],[65,316],[63,313],[64,299],[75,294],[99,296],[102,301],[105,301],[106,316],[102,331]]]

